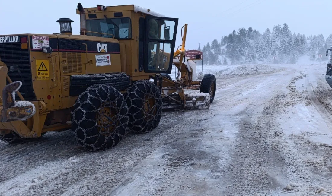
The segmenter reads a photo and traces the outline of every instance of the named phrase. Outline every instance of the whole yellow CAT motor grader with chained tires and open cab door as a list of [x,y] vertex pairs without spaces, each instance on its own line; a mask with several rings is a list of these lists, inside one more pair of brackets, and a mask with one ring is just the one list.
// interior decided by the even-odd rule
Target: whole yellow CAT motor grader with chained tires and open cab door
[[[193,79],[184,56],[187,24],[175,50],[176,18],[135,5],[79,3],[76,12],[80,35],[61,18],[60,33],[0,36],[0,139],[72,129],[85,149],[107,149],[127,132],[156,128],[163,109],[209,108],[215,77]],[[175,80],[167,75],[173,64]]]

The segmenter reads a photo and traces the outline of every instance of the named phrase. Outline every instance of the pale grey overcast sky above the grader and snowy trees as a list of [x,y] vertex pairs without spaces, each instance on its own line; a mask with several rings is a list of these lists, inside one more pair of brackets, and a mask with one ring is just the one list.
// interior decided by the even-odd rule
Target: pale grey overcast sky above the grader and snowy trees
[[[228,35],[241,27],[252,27],[263,33],[273,25],[287,23],[292,33],[311,35],[322,33],[324,37],[332,33],[330,27],[328,0],[49,0],[49,1],[9,1],[0,2],[0,34],[15,33],[59,33],[59,18],[70,18],[73,34],[79,33],[77,3],[84,7],[135,4],[165,15],[179,18],[177,46],[181,44],[181,27],[187,23],[187,49],[197,49],[214,38]],[[163,4],[161,4],[163,3]],[[176,46],[176,47],[177,47]]]

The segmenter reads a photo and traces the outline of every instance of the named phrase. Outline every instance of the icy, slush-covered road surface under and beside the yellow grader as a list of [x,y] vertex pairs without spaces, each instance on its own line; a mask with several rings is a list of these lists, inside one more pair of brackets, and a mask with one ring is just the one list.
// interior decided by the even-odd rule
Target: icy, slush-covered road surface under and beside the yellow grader
[[84,152],[70,131],[0,142],[0,195],[332,195],[326,66],[270,66],[207,67],[210,109],[165,113],[114,149]]

